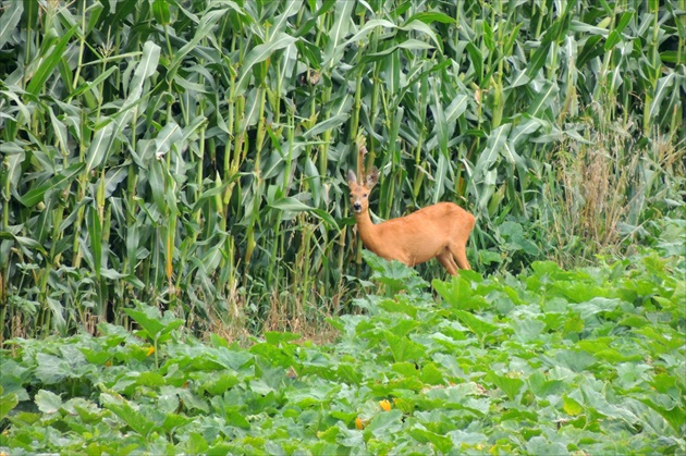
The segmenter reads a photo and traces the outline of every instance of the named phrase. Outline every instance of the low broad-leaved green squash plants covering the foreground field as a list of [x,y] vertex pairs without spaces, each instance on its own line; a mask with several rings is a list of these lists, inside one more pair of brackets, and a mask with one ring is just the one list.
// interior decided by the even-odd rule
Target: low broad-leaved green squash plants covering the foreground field
[[[400,267],[376,264],[394,283]],[[201,343],[173,319],[148,328],[159,312],[144,306],[145,338],[101,323],[99,337],[14,340],[0,452],[679,454],[684,267],[536,262],[436,281],[436,299],[403,267],[412,286],[367,296],[369,313],[336,319],[340,340],[320,346]],[[166,329],[155,361],[148,334]]]

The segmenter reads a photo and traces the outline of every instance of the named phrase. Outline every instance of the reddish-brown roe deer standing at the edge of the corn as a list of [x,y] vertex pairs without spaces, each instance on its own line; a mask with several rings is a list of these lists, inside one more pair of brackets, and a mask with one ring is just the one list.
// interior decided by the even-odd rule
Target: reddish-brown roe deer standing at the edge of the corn
[[379,257],[407,266],[438,258],[452,275],[457,275],[457,267],[471,269],[466,245],[474,227],[474,215],[453,202],[439,202],[375,225],[369,217],[369,194],[378,181],[376,167],[363,184],[357,183],[355,172],[347,173],[351,206],[365,247]]

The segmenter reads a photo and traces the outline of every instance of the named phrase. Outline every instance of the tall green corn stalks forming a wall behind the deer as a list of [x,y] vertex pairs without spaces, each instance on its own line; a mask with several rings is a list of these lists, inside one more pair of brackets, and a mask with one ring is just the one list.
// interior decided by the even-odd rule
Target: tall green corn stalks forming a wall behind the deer
[[[379,219],[477,217],[473,268],[622,252],[683,211],[686,0],[3,0],[0,324],[313,333]],[[443,276],[438,263],[420,267]]]

